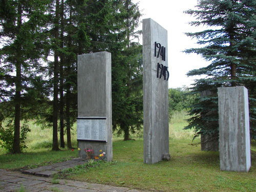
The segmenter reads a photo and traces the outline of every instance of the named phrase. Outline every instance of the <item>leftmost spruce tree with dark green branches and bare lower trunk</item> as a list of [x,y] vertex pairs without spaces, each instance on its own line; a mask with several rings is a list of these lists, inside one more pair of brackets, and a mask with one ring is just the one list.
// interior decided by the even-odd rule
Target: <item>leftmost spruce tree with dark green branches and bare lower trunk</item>
[[33,108],[29,103],[36,100],[33,82],[40,78],[40,27],[45,24],[47,4],[1,1],[1,111],[2,118],[11,121],[9,125],[14,121],[13,153],[20,153],[20,120],[28,118],[29,109]]

